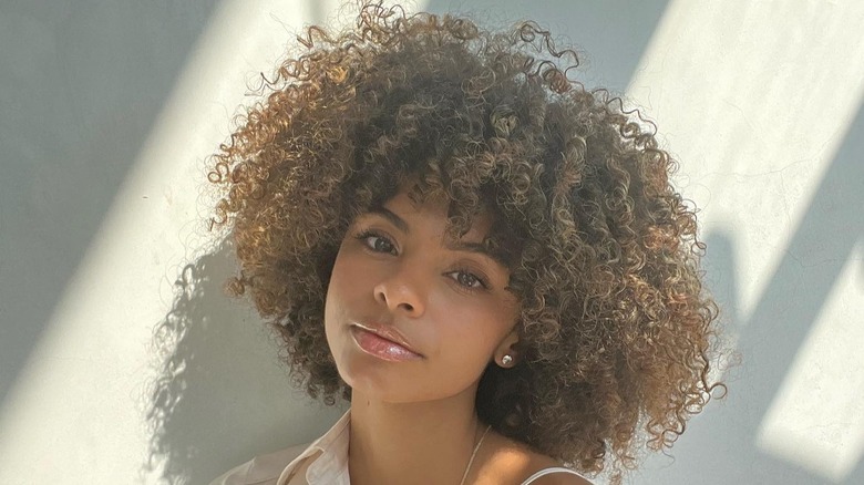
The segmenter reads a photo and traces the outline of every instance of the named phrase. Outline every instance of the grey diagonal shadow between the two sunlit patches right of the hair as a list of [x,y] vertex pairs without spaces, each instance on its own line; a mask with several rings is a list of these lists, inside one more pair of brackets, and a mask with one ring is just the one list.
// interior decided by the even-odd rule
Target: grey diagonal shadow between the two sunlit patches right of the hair
[[[698,423],[682,436],[681,446],[673,448],[677,463],[669,466],[666,458],[651,460],[652,469],[639,474],[646,483],[689,483],[693,476],[699,476],[699,483],[704,485],[864,483],[862,456],[842,481],[829,482],[757,445],[760,426],[795,357],[806,343],[844,265],[855,258],[856,245],[862,247],[864,242],[863,157],[864,105],[788,246],[782,248],[783,257],[750,316],[740,314],[736,303],[739,295],[732,249],[734,228],[707,236],[704,265],[709,286],[723,309],[722,318],[730,333],[738,333],[742,365],[727,376],[728,398],[709,405],[709,415],[698,416]],[[857,296],[862,298],[864,295]],[[850,362],[848,372],[864,372],[860,362]],[[850,389],[850,398],[860,400],[863,391]],[[819,393],[814,386],[812,398],[819,400]],[[836,425],[842,417],[823,419]],[[820,433],[813,430],[814,441]],[[813,444],[801,442],[795,446],[806,448]]]

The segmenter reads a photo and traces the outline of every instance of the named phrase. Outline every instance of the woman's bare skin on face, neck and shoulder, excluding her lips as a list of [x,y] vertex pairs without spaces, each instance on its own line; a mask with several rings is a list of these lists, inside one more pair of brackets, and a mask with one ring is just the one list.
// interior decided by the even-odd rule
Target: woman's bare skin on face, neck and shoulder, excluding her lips
[[[459,484],[486,426],[474,396],[483,370],[518,355],[516,298],[507,268],[479,244],[491,220],[481,215],[449,240],[446,204],[414,203],[408,185],[381,209],[359,216],[337,256],[325,308],[330,350],[351,385],[351,483]],[[354,322],[390,326],[421,355],[389,362],[363,352]],[[551,458],[490,431],[465,483],[521,483]],[[537,484],[584,484],[554,474]]]

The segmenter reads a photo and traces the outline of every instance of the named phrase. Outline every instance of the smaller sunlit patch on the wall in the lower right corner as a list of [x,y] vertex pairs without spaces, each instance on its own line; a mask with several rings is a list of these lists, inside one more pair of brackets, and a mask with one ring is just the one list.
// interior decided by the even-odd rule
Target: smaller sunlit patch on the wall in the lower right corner
[[757,443],[841,483],[864,455],[864,242],[835,281],[762,421]]

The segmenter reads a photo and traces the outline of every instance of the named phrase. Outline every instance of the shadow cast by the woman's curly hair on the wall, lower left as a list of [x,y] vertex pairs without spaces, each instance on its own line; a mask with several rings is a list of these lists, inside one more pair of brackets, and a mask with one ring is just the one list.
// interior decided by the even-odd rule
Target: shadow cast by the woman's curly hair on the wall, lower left
[[[187,265],[171,311],[154,328],[160,362],[146,396],[146,483],[207,484],[322,431],[323,405],[291,392],[266,327],[223,290],[234,268],[227,244]],[[323,422],[341,412],[325,412],[332,420]]]

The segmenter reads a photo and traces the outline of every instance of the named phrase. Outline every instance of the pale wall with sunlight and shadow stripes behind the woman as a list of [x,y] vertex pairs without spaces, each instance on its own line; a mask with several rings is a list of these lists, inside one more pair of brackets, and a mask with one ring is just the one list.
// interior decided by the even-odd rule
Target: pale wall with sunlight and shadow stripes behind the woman
[[[0,0],[0,483],[206,483],[338,415],[222,293],[202,188],[330,3]],[[864,482],[864,3],[419,3],[551,25],[680,159],[742,364],[632,483]]]

